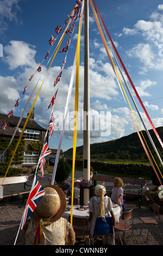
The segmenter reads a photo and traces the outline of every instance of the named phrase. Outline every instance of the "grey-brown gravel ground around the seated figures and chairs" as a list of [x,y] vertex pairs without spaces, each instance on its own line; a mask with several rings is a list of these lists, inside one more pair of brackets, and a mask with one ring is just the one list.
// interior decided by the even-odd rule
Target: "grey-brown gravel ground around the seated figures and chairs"
[[[14,245],[26,200],[22,203],[21,199],[15,198],[14,200],[3,199],[0,201],[0,245]],[[144,202],[144,205],[139,208],[139,202],[127,200],[125,203],[126,210],[133,209],[133,220],[134,220],[134,233],[136,235],[139,245],[163,245],[160,235],[152,228],[149,229],[148,240],[146,241],[147,225],[144,225],[142,234],[140,236],[141,221],[140,217],[149,216],[153,217],[153,212],[149,209],[148,202]],[[159,229],[163,236],[163,214],[160,214]],[[21,245],[23,240],[23,231],[20,230],[18,233],[16,245]],[[122,236],[123,237],[123,236]],[[115,232],[116,245],[121,245],[120,239],[118,238],[117,232]],[[76,245],[84,245],[82,240],[77,241]],[[102,245],[101,239],[95,240],[95,246]],[[131,230],[126,232],[124,236],[124,245],[136,245],[133,233]]]

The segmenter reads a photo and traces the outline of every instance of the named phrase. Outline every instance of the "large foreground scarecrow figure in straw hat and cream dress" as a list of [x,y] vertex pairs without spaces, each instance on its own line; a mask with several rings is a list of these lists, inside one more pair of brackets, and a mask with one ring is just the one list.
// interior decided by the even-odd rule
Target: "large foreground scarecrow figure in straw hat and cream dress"
[[64,192],[54,185],[43,188],[45,195],[24,226],[25,245],[74,245],[76,239],[73,227],[62,218],[66,210]]

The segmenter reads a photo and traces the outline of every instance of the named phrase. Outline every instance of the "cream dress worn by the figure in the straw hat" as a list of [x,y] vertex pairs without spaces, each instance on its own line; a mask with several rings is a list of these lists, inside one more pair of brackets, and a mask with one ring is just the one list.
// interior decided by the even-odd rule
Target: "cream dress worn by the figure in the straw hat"
[[[37,222],[31,219],[26,231],[26,245],[34,244],[37,226]],[[42,245],[65,245],[67,229],[70,229],[70,223],[65,218],[60,218],[49,225],[42,225]]]

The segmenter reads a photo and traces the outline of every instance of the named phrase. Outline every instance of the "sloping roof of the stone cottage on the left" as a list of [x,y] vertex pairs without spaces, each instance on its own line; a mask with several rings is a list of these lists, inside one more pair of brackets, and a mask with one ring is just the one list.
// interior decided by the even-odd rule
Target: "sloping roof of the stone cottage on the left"
[[[7,127],[5,130],[0,129],[0,135],[12,136],[15,131],[15,128],[17,126],[17,123],[20,120],[20,117],[12,116],[12,117],[8,118],[7,114],[0,113],[0,125],[3,124],[4,120],[7,123]],[[23,128],[24,124],[26,123],[26,120],[27,120],[27,118],[23,117],[19,127]],[[46,129],[43,128],[42,126],[40,126],[39,124],[37,124],[34,119],[30,119],[30,118],[28,120],[26,128],[33,129],[33,130],[39,130],[39,131],[46,131]],[[17,131],[15,136],[19,137],[20,132]]]

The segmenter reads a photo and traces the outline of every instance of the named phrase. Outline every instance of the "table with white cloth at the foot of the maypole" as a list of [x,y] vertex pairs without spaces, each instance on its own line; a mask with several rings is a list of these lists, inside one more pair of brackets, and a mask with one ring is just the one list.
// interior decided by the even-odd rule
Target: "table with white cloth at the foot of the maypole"
[[[64,215],[62,216],[63,218],[66,218],[67,221],[68,221],[68,216],[71,216],[71,205],[69,205],[67,203],[67,208],[68,207],[70,208],[70,211],[65,211]],[[72,216],[89,217],[89,210],[77,210],[77,207],[79,207],[79,205],[73,205]],[[87,207],[87,206],[84,206],[84,207]],[[115,223],[118,223],[120,220],[120,215],[121,215],[120,206],[118,206],[117,204],[114,204],[113,211],[114,211],[114,215],[115,215]],[[110,215],[110,212],[109,212],[109,215]]]

